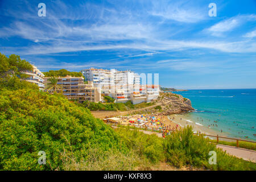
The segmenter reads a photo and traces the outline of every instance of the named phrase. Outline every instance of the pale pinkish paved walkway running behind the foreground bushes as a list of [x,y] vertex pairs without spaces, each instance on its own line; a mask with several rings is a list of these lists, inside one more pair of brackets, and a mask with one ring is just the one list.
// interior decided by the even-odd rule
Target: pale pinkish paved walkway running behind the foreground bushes
[[[116,126],[112,126],[116,127]],[[142,131],[144,134],[156,134],[158,137],[162,137],[161,133],[153,132],[153,131],[145,131],[145,130],[139,130]],[[234,147],[234,146],[225,146],[224,144],[216,144],[217,148],[221,148],[223,151],[226,151],[226,153],[230,155],[234,155],[237,158],[242,158],[243,160],[248,160],[251,162],[256,163],[256,151],[249,150],[246,148],[240,148],[240,147]]]

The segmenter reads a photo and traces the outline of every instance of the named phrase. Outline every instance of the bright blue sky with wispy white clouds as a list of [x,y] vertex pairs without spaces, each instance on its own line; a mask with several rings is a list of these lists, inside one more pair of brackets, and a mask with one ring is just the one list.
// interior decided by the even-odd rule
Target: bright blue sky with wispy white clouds
[[0,0],[0,52],[41,71],[131,69],[172,88],[256,88],[255,40],[255,0]]

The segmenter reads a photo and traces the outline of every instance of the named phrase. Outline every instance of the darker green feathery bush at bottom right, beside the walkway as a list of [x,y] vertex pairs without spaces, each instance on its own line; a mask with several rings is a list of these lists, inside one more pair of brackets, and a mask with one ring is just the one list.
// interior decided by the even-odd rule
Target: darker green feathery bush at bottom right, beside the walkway
[[[227,155],[215,144],[209,143],[209,139],[193,135],[191,126],[168,135],[164,140],[164,151],[167,162],[176,167],[189,164],[213,170],[256,170],[254,163]],[[209,164],[209,151],[216,151],[216,165]]]

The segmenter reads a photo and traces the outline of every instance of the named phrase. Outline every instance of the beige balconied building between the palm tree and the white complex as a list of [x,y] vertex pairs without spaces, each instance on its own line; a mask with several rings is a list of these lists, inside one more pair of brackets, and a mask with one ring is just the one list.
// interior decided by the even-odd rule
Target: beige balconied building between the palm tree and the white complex
[[[48,79],[51,77],[44,77],[44,84],[47,85]],[[61,86],[62,92],[69,100],[77,100],[82,103],[85,100],[91,102],[101,101],[101,90],[93,86],[92,81],[88,81],[88,84],[84,82],[83,77],[56,77],[58,79],[57,84]]]

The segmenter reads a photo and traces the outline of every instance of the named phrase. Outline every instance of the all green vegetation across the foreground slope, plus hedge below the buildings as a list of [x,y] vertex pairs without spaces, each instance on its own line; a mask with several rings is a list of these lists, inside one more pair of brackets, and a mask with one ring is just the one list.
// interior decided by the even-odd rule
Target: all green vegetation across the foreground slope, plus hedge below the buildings
[[[209,139],[193,135],[191,127],[166,139],[127,127],[113,130],[85,106],[23,81],[24,69],[31,69],[27,61],[0,54],[0,63],[0,170],[130,170],[159,162],[256,170],[255,163],[226,155]],[[145,105],[150,104],[133,106]],[[212,150],[217,152],[216,165],[208,163]],[[46,165],[38,164],[39,151],[46,152]]]

